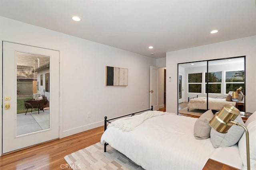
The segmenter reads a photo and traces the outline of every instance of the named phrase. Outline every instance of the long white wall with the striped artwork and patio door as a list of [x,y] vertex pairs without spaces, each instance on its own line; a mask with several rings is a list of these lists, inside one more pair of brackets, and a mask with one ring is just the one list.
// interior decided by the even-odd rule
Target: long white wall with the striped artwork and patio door
[[[60,51],[60,137],[104,125],[104,116],[112,118],[150,107],[154,58],[4,17],[0,17],[0,40]],[[105,66],[128,68],[128,86],[105,86]],[[2,63],[0,67],[2,70]],[[89,112],[91,118],[87,118]]]

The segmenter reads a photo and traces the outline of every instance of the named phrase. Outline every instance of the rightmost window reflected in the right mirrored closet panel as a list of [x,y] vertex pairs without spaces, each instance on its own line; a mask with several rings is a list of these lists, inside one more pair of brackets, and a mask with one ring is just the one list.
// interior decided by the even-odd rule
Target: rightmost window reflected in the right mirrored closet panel
[[244,70],[226,72],[226,94],[229,91],[236,92],[236,89],[242,86],[244,89]]

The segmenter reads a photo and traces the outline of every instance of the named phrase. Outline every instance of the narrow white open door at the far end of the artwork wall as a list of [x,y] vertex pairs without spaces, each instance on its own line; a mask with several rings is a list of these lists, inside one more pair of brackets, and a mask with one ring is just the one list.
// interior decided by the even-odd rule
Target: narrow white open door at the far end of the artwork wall
[[150,66],[150,107],[158,110],[158,67]]

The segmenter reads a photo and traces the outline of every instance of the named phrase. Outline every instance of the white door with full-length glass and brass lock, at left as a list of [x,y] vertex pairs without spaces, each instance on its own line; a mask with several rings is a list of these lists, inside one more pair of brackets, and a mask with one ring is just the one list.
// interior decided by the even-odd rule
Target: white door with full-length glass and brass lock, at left
[[59,51],[3,42],[2,88],[2,153],[59,137]]

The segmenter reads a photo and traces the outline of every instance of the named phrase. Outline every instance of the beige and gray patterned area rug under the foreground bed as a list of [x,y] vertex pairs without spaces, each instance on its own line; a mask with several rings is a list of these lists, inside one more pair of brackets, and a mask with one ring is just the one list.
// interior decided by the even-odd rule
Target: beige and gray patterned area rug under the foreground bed
[[104,152],[100,142],[64,157],[74,170],[144,170],[110,145]]

